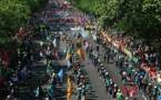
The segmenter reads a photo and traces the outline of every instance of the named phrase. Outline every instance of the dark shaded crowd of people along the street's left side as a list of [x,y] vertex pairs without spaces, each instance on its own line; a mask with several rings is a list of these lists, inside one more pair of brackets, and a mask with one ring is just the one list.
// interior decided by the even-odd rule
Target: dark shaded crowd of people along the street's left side
[[[14,37],[14,40],[17,41],[17,43],[19,43],[19,47],[12,52],[11,50],[10,52],[9,50],[3,50],[1,52],[0,99],[6,98],[7,100],[14,100],[19,97],[19,86],[26,83],[33,77],[34,62],[44,59],[47,60],[47,68],[50,68],[49,66],[51,66],[51,60],[58,60],[61,58],[61,54],[58,56],[60,36],[51,34],[48,24],[43,22],[39,17],[36,17],[34,21],[31,22],[30,26],[32,26],[32,30],[30,31],[34,33],[29,33],[30,31],[21,28],[19,33]],[[39,44],[36,42],[36,40],[42,40],[42,42],[39,42]],[[48,73],[50,74],[49,71],[51,70],[48,69]],[[53,77],[53,74],[51,77]],[[40,81],[40,84],[38,84],[36,97],[43,97],[40,93],[41,84],[43,83]]]

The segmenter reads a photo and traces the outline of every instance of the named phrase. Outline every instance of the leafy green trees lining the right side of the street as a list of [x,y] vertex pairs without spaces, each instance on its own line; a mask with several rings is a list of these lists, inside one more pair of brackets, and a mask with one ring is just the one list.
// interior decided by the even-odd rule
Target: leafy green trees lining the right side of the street
[[161,38],[161,0],[76,0],[103,28],[144,39]]

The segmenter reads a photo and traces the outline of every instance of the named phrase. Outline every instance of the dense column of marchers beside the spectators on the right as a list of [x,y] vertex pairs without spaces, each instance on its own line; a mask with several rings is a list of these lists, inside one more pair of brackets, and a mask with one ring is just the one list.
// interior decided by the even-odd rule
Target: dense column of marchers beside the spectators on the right
[[[123,38],[119,38],[119,39],[123,39]],[[143,66],[158,63],[155,56],[151,56],[151,58],[149,58],[145,54],[150,52],[142,51],[142,53],[144,54],[143,57],[145,58],[141,58],[140,61],[135,63],[134,61],[130,60],[129,57],[123,51],[115,49],[115,47],[112,46],[111,42],[104,40],[104,37],[100,34],[98,36],[97,43],[102,44],[103,48],[105,49],[104,57],[103,57],[104,62],[113,62],[115,67],[120,70],[122,82],[124,84],[125,83],[137,84],[138,88],[133,88],[133,90],[139,89],[140,91],[144,91],[144,93],[151,100],[155,100],[160,96],[160,86],[157,84],[157,82],[154,82],[153,80],[151,80],[151,76],[149,76],[148,71],[144,70],[143,67],[141,66],[142,63],[144,63]],[[95,54],[94,60],[99,61],[99,54],[98,53],[94,53],[94,54]]]

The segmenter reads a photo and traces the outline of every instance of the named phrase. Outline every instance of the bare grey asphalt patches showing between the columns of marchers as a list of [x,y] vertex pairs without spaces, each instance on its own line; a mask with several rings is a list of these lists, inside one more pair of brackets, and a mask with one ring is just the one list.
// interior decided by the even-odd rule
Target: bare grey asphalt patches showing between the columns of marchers
[[[53,0],[51,0],[51,1],[53,1]],[[77,10],[71,10],[71,11],[77,11]],[[74,12],[70,12],[70,13],[74,13]],[[57,27],[64,28],[62,26],[57,26]],[[54,31],[54,32],[59,32],[59,31]],[[64,32],[67,32],[67,31],[64,30]],[[72,31],[69,31],[68,33],[72,33]],[[95,47],[95,42],[93,42],[93,40],[91,38],[89,40],[92,43],[92,46]],[[60,46],[66,46],[66,44],[61,43]],[[103,59],[103,53],[104,53],[104,49],[101,47],[100,56],[99,56],[99,58],[101,58],[101,60]],[[62,63],[61,61],[59,61],[59,62]],[[105,92],[104,83],[100,79],[100,77],[97,72],[97,69],[94,68],[93,63],[91,62],[91,60],[89,58],[87,58],[85,61],[83,61],[83,66],[84,66],[84,70],[88,71],[90,81],[92,83],[92,93],[87,97],[88,100],[112,100],[111,97],[108,96],[108,93]],[[121,82],[121,76],[119,74],[119,70],[117,69],[117,67],[113,63],[104,63],[104,66],[105,66],[107,70],[109,71],[109,73],[112,76],[112,79],[114,80],[114,82],[121,88],[123,86],[123,83]],[[33,68],[32,70],[33,70],[34,77],[29,82],[27,82],[26,84],[22,84],[22,87],[20,87],[21,100],[33,100],[31,92],[33,92],[33,89],[36,89],[38,81],[46,79],[46,66],[44,66],[43,61],[34,62],[32,64],[32,68]],[[33,86],[31,86],[31,84],[33,84]],[[64,87],[62,90],[66,90],[66,83],[64,83]],[[143,96],[143,93],[140,92],[138,94],[137,100],[145,100],[142,96]],[[66,96],[62,96],[62,97],[63,98],[61,100],[66,100],[64,99]],[[72,96],[72,100],[77,100],[76,94]]]

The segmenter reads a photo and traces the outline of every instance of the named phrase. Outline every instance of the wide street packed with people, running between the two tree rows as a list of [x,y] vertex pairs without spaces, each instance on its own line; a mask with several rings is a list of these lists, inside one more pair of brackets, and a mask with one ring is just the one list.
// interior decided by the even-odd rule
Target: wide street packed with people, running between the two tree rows
[[[137,67],[142,66],[139,60],[130,68],[133,53],[122,52],[128,44],[115,48],[123,33],[110,41],[111,36],[99,30],[94,16],[74,6],[72,0],[49,0],[29,20],[29,33],[20,28],[13,37],[19,42],[16,68],[0,72],[7,74],[0,83],[0,100],[155,100],[160,96],[155,80]],[[8,66],[8,56],[0,56]]]

